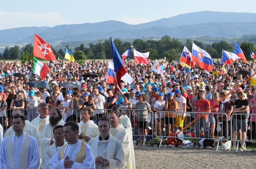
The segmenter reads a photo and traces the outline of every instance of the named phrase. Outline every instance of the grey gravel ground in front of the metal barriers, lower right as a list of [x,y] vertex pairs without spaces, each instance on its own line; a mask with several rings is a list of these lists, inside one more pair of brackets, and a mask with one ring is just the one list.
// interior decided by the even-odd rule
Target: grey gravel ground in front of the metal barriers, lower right
[[252,152],[134,146],[137,169],[256,168]]

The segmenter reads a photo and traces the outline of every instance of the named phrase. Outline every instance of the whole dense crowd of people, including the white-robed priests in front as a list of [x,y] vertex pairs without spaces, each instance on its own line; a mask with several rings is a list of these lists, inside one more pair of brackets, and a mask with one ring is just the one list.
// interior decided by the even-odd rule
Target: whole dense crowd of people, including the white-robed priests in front
[[[106,83],[108,61],[105,60],[84,61],[81,65],[76,61],[50,61],[46,63],[49,74],[45,79],[33,74],[32,60],[25,64],[0,61],[0,124],[4,135],[0,153],[5,156],[1,157],[1,166],[11,168],[13,163],[12,166],[18,168],[15,166],[31,163],[41,168],[70,168],[72,165],[81,167],[76,163],[84,163],[83,167],[87,168],[135,168],[134,138],[139,143],[147,142],[143,136],[148,135],[149,129],[154,136],[170,136],[183,130],[194,119],[195,123],[185,130],[195,135],[198,141],[202,133],[204,138],[222,135],[228,139],[232,132],[233,140],[242,140],[241,148],[246,149],[244,140],[248,129],[251,130],[251,139],[255,139],[255,116],[246,115],[256,114],[255,86],[247,80],[229,94],[250,76],[251,70],[255,71],[255,61],[250,64],[236,60],[232,65],[224,65],[226,71],[222,74],[219,59],[213,60],[213,70],[207,71],[196,66],[187,69],[175,60],[168,63],[164,58],[160,60],[163,75],[152,71],[153,62],[148,61],[149,64],[136,64],[129,59],[124,60],[127,73],[134,81],[127,84],[121,80],[118,85]],[[83,77],[85,73],[91,75]],[[27,85],[33,81],[48,88]],[[67,87],[62,83],[74,86]],[[219,102],[223,97],[226,98]],[[233,115],[241,113],[243,115]],[[20,162],[14,163],[9,152],[3,152],[6,147],[11,148],[5,139],[14,133],[18,136],[17,116],[22,116],[22,124],[26,124],[22,126],[24,133],[37,140],[34,143],[30,138],[28,144],[38,144],[39,148],[38,152],[33,152],[39,154],[38,159],[31,160],[33,157],[29,154],[26,164],[20,164],[25,157],[18,157]],[[24,123],[23,119],[26,120]],[[218,124],[222,126],[221,131]],[[71,136],[72,132],[75,136]],[[117,141],[109,142],[114,139],[112,137]],[[13,157],[18,156],[15,144],[25,139],[29,140],[29,137],[24,136],[21,140],[13,137]],[[113,142],[116,143],[112,145]],[[77,143],[81,148],[71,147]],[[194,146],[200,144],[195,143]],[[233,141],[232,148],[236,146],[236,141]],[[19,147],[19,153],[26,148]],[[82,147],[86,149],[86,156],[80,154]],[[109,147],[113,151],[109,152]],[[87,151],[91,157],[87,156]]]

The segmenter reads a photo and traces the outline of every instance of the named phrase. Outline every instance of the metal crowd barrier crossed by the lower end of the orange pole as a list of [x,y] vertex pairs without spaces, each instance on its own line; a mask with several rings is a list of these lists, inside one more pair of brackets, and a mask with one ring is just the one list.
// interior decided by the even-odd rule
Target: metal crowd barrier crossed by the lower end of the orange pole
[[[181,132],[176,136],[173,136],[173,134],[170,136],[171,133],[179,132],[183,128],[183,126],[186,126],[187,124],[190,123],[190,121],[187,120],[188,118],[186,118],[187,116],[184,116],[184,121],[182,124],[182,118],[180,116],[181,114],[178,114],[178,113],[182,114],[183,112],[168,112],[168,111],[156,112],[155,119],[154,119],[156,137],[161,137],[161,142],[163,137],[178,138],[178,139],[181,139],[182,141],[184,139],[187,139],[188,137],[193,139],[213,139],[214,141],[217,141],[216,150],[218,150],[219,140],[228,141],[228,124],[229,123],[228,121],[226,121],[226,119],[228,119],[228,116],[225,113],[213,114],[213,113],[205,113],[205,112],[186,112],[188,113],[188,115],[192,117],[192,118],[190,117],[190,121],[193,121],[196,117],[198,117],[199,113],[207,114],[208,118],[199,118],[194,123],[191,123],[187,130],[184,130],[183,132]],[[209,120],[210,118],[211,120]],[[213,118],[215,120],[215,127],[213,125],[214,121],[212,121]],[[211,129],[210,129],[210,125],[212,126]],[[221,125],[222,129],[218,128],[218,125]],[[219,134],[223,137],[219,137]],[[213,135],[215,137],[213,137]],[[161,145],[161,142],[159,144],[159,147]]]

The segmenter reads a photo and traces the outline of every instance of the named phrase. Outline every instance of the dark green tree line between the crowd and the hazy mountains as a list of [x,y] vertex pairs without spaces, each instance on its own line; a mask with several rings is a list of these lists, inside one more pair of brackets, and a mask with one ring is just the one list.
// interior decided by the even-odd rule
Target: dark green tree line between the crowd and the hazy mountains
[[[147,40],[143,41],[142,39],[135,39],[132,43],[130,42],[123,42],[122,40],[115,39],[113,40],[114,44],[119,52],[122,55],[127,49],[131,46],[141,53],[150,52],[149,57],[154,60],[156,58],[163,58],[166,57],[167,60],[179,60],[181,57],[181,53],[183,51],[184,45],[188,48],[189,51],[192,49],[193,42],[199,46],[199,48],[207,51],[212,58],[221,58],[222,57],[222,50],[233,52],[234,51],[234,44],[222,40],[220,42],[214,42],[212,45],[205,46],[203,42],[187,39],[185,44],[183,44],[177,38],[171,38],[168,35],[163,36],[160,40]],[[53,53],[56,55],[56,59],[64,59],[66,49],[59,49],[56,51],[53,46],[52,50]],[[240,44],[244,55],[246,56],[247,60],[250,60],[250,51],[252,50],[256,53],[254,48],[254,44],[252,42],[242,42]],[[69,45],[66,45],[66,48],[72,52],[72,49],[69,48]],[[79,61],[83,62],[86,59],[112,59],[112,49],[111,49],[111,41],[108,40],[99,40],[96,44],[89,43],[88,47],[86,48],[85,45],[82,43],[80,46],[74,48],[74,52],[72,52],[74,58]],[[20,48],[19,46],[13,46],[11,48],[6,47],[4,52],[1,54],[0,57],[4,60],[21,60],[23,63],[32,59],[33,57],[33,45],[27,44],[24,47]],[[133,52],[131,52],[131,58],[133,58]]]

